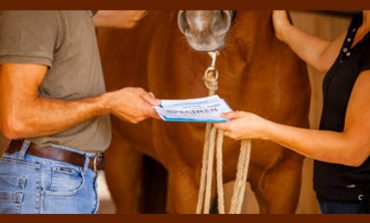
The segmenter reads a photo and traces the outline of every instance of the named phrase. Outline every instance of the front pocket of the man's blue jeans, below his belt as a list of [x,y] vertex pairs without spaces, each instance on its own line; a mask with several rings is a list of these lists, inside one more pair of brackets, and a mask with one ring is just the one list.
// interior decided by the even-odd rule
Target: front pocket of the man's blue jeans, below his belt
[[85,184],[85,177],[81,169],[68,166],[51,167],[50,188],[48,195],[72,196]]

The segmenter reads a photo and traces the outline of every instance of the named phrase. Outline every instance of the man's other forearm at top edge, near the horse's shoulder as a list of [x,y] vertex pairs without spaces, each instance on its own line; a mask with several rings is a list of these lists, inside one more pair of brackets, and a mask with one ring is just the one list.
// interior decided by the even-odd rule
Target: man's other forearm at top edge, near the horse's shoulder
[[129,29],[147,14],[143,10],[102,10],[94,16],[96,27]]

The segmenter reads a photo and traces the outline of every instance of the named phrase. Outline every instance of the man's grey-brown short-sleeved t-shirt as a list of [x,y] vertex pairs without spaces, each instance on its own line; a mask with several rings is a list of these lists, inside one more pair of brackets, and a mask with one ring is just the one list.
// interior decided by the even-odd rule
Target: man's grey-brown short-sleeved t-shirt
[[[0,64],[4,63],[47,65],[39,89],[42,97],[76,100],[105,92],[90,11],[1,11]],[[28,140],[102,151],[111,141],[109,116]]]

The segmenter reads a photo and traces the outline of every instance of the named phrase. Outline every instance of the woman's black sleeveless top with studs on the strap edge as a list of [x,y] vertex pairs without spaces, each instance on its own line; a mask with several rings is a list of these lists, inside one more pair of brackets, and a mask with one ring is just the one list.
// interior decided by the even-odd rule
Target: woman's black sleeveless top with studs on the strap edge
[[[360,73],[370,70],[370,32],[351,48],[361,24],[362,14],[355,15],[339,56],[324,78],[321,130],[343,131],[352,88]],[[314,187],[319,199],[367,199],[370,197],[370,158],[356,168],[315,161]]]

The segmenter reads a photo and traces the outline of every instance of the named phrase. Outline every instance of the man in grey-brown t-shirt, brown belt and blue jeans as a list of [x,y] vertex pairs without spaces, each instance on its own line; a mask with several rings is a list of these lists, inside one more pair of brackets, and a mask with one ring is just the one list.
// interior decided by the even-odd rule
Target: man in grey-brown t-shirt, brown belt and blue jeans
[[[140,88],[105,92],[90,11],[0,12],[0,213],[95,213],[109,114],[157,117]],[[101,11],[97,26],[130,28],[143,11]]]

